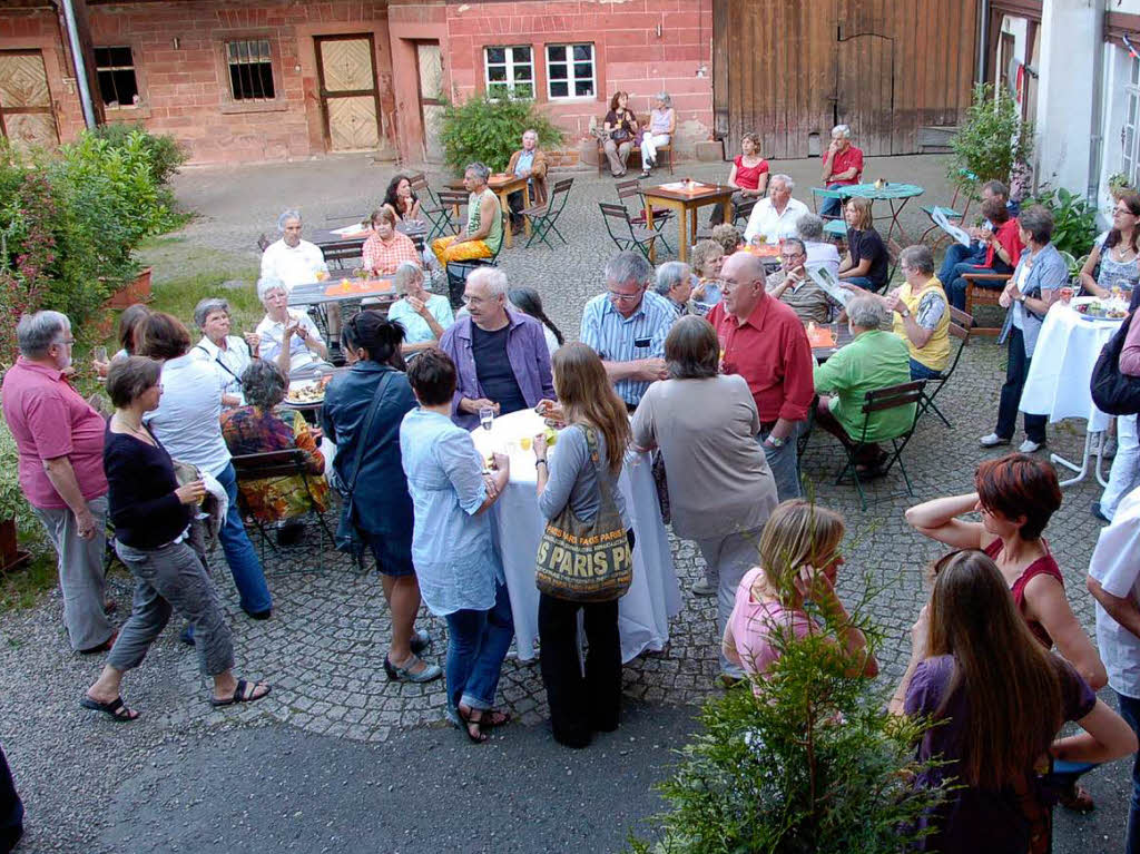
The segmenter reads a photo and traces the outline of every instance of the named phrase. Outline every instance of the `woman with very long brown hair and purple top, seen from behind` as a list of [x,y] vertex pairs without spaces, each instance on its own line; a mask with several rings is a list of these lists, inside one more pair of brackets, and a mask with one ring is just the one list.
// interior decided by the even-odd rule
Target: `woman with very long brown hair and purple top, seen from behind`
[[[993,560],[974,550],[935,564],[934,593],[911,631],[913,649],[890,710],[938,725],[919,745],[940,758],[920,786],[953,780],[926,819],[923,851],[1049,851],[1047,759],[1101,763],[1137,749],[1129,725],[1062,659],[1035,642]],[[1053,740],[1075,721],[1083,733]],[[1044,768],[1042,768],[1044,770]]]

